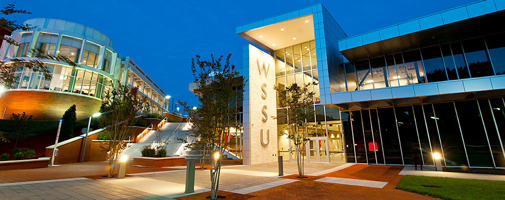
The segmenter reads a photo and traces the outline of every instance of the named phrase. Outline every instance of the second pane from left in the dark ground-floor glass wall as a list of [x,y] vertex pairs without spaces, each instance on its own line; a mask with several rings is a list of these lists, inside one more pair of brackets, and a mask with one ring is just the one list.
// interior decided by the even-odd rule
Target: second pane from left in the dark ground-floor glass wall
[[354,134],[354,146],[356,148],[356,159],[358,163],[367,163],[367,152],[365,140],[363,138],[363,124],[361,111],[351,111],[352,133]]

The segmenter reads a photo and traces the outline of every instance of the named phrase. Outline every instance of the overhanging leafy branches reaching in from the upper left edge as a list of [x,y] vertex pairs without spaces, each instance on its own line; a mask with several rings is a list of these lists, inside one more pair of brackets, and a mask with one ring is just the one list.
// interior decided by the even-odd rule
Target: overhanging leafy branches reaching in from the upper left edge
[[[8,4],[4,9],[0,10],[0,32],[12,32],[15,30],[30,31],[36,28],[30,24],[17,24],[16,20],[9,20],[6,18],[12,14],[31,13],[26,10],[16,9],[14,4]],[[8,44],[19,46],[17,41],[11,37],[5,37],[3,34],[0,34],[0,39],[5,40]],[[16,77],[12,73],[17,70],[22,71],[24,68],[28,68],[33,72],[41,72],[44,75],[45,80],[51,80],[53,78],[51,71],[49,71],[49,68],[41,62],[45,59],[64,62],[73,67],[77,66],[77,63],[71,61],[66,56],[55,56],[38,47],[30,49],[30,54],[33,55],[32,57],[37,59],[14,58],[8,60],[7,62],[0,61],[0,86],[4,85],[7,89],[9,89],[14,83],[18,83],[20,77]]]

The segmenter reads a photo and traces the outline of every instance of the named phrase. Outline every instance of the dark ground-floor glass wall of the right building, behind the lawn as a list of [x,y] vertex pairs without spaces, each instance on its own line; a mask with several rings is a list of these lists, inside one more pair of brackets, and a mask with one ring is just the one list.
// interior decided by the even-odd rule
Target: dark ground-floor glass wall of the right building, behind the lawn
[[[328,109],[328,108],[326,108]],[[341,112],[346,162],[505,168],[503,98]],[[331,161],[330,161],[331,162]]]

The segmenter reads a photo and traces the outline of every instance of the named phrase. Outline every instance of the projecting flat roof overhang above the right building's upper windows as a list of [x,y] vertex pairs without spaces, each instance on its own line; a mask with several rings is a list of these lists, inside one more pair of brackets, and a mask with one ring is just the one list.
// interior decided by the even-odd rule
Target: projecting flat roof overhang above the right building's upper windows
[[[347,60],[357,61],[420,46],[505,31],[505,26],[496,22],[496,19],[505,19],[505,10],[445,24],[443,24],[446,21],[443,20],[443,15],[438,15],[440,15],[440,24],[431,28],[423,29],[422,19],[424,18],[421,18],[339,40],[339,51]],[[428,17],[438,18],[437,15]]]

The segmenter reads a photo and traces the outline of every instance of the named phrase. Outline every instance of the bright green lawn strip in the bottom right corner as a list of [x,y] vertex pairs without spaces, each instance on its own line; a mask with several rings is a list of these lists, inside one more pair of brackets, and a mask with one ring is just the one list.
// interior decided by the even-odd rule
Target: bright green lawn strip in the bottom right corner
[[442,199],[505,199],[505,181],[406,175],[396,189]]

